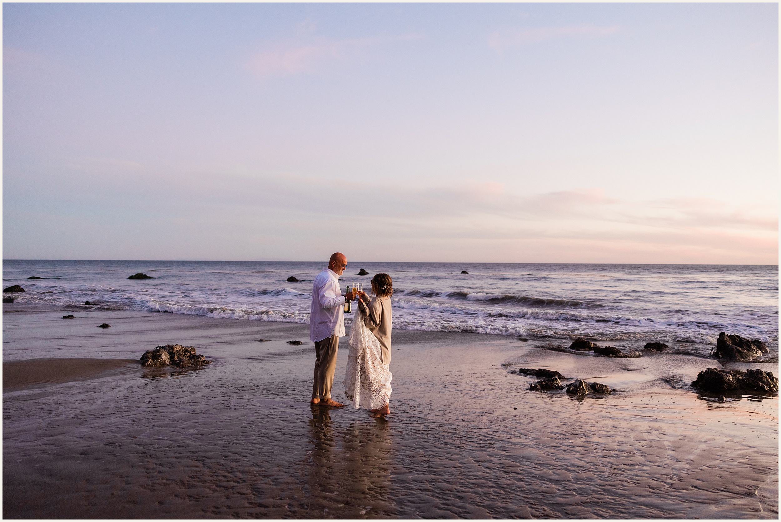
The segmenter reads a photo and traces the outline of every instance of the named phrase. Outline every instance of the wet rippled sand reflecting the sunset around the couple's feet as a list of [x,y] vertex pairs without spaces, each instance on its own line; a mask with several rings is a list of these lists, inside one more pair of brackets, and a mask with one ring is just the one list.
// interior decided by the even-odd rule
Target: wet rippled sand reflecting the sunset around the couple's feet
[[[40,343],[47,314],[5,314],[4,342]],[[215,363],[4,393],[4,517],[778,517],[775,398],[711,402],[626,359],[399,331],[394,414],[374,420],[308,405],[313,346],[285,344],[305,326],[116,317],[112,338],[52,350],[129,358],[177,338]],[[508,362],[621,393],[529,392]]]

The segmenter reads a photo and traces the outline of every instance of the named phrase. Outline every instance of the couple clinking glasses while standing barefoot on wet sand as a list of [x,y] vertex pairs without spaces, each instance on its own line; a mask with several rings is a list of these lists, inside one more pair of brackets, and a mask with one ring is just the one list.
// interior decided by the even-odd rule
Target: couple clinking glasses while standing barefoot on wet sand
[[355,408],[369,409],[372,417],[391,413],[391,295],[393,281],[387,274],[372,277],[373,299],[362,291],[342,295],[339,276],[347,268],[347,257],[331,256],[328,268],[312,284],[312,313],[309,339],[315,341],[315,382],[312,404],[340,407],[331,399],[339,338],[344,335],[344,303],[358,299],[350,327],[350,356],[344,374],[344,394]]

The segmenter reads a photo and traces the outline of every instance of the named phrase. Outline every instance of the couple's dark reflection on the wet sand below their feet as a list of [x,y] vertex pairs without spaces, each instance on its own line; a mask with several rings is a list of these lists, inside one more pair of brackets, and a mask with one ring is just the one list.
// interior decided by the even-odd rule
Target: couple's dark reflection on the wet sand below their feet
[[[340,416],[338,423],[332,415]],[[345,423],[342,416],[355,420]],[[391,424],[387,420],[312,405],[309,434],[308,516],[392,516],[388,492]]]

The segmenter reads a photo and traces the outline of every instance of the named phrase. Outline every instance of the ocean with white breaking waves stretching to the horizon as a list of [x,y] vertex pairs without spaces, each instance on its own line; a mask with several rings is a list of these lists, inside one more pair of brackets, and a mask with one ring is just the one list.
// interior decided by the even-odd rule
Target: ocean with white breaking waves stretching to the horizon
[[[325,262],[5,260],[21,303],[307,324]],[[369,276],[358,276],[359,269]],[[468,274],[462,274],[462,271]],[[127,277],[143,272],[154,279]],[[713,345],[719,332],[778,346],[778,266],[351,262],[346,284],[393,278],[394,328],[614,345]],[[288,277],[299,282],[288,282]],[[42,277],[42,279],[28,279]],[[349,324],[351,314],[345,314]],[[701,345],[701,350],[697,346]]]

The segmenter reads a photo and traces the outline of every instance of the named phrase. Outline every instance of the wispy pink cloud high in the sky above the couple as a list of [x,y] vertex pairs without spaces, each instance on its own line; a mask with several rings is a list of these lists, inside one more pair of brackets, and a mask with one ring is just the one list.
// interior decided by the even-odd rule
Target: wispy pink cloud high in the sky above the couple
[[298,27],[298,38],[267,45],[266,49],[255,53],[247,60],[246,68],[256,77],[295,74],[310,70],[322,63],[348,59],[375,45],[422,38],[419,34],[347,39],[307,36],[314,30],[315,26],[312,23]]

